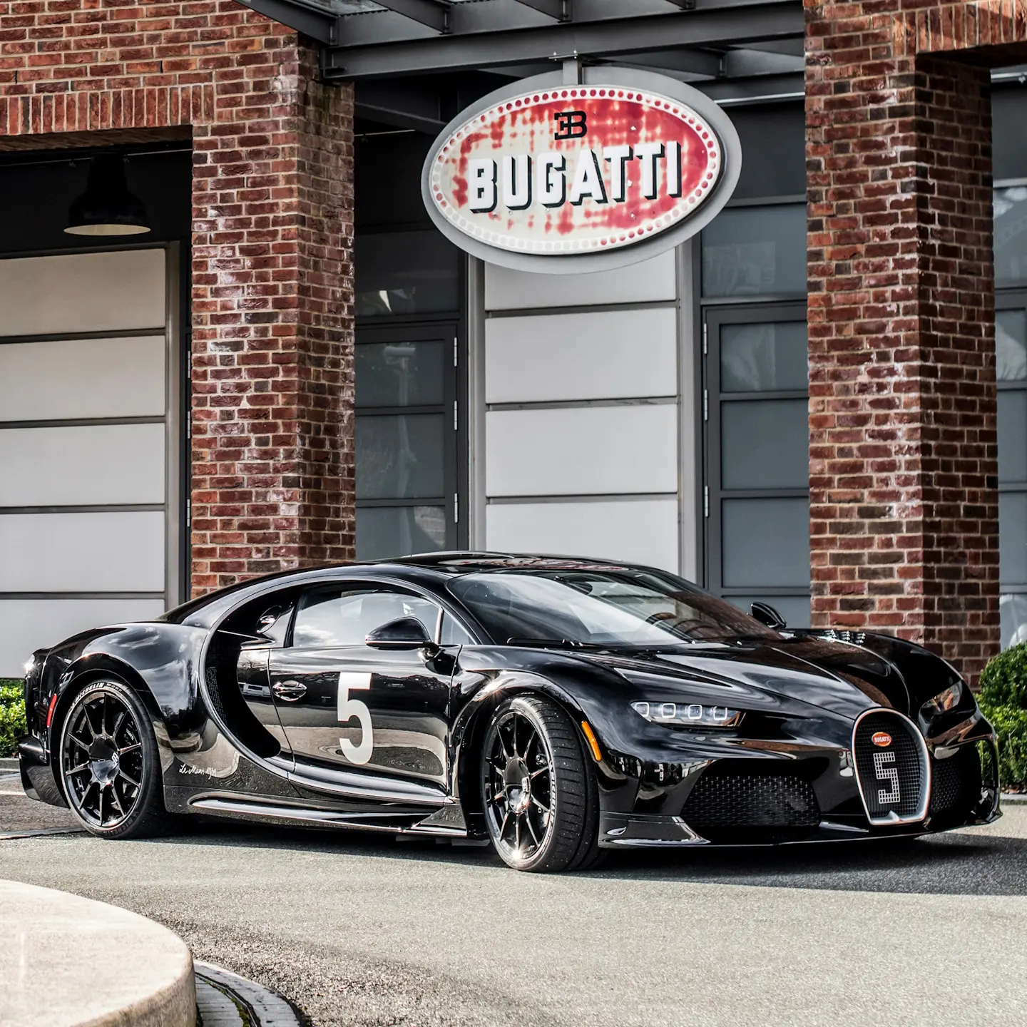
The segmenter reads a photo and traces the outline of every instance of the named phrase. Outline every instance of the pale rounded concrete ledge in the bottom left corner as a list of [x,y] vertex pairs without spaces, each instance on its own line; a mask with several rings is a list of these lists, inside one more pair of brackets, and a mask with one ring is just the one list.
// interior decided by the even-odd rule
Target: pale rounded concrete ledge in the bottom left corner
[[4,1027],[195,1027],[189,949],[106,903],[0,881]]

